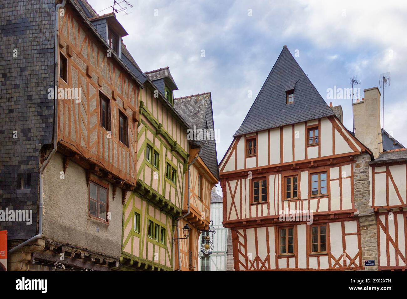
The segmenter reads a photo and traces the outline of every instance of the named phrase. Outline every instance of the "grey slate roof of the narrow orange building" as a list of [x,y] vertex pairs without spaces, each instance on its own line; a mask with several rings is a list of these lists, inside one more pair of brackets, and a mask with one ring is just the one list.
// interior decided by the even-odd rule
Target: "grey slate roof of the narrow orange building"
[[[213,129],[212,96],[210,92],[174,99],[174,107],[192,129]],[[195,128],[194,128],[195,127]],[[219,179],[215,140],[201,142],[201,158],[212,174]]]

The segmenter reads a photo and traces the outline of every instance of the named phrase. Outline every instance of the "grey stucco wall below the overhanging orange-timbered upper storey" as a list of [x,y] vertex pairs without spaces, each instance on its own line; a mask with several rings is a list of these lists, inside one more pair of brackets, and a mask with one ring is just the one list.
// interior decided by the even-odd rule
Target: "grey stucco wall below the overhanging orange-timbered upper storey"
[[122,237],[122,192],[112,200],[109,183],[109,224],[88,216],[88,186],[85,170],[69,161],[65,179],[62,155],[56,153],[44,172],[44,237],[95,253],[120,257]]

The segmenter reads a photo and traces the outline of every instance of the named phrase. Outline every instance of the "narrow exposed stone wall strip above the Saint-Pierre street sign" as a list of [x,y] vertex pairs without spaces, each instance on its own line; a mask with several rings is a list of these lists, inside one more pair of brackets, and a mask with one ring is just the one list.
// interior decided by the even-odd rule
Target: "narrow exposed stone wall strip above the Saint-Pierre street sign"
[[354,164],[354,201],[355,213],[359,217],[362,240],[362,265],[365,260],[374,260],[374,266],[365,266],[365,270],[377,270],[379,263],[377,256],[377,227],[374,209],[370,206],[369,181],[370,155],[362,154],[357,157]]

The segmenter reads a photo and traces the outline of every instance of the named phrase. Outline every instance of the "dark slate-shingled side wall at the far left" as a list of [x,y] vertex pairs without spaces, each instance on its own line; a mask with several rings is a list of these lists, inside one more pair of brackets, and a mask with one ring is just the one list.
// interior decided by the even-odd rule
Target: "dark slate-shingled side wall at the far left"
[[[37,233],[39,150],[53,137],[54,11],[55,0],[0,1],[0,210],[32,210],[34,219],[1,222],[9,240]],[[19,173],[30,188],[18,190]]]

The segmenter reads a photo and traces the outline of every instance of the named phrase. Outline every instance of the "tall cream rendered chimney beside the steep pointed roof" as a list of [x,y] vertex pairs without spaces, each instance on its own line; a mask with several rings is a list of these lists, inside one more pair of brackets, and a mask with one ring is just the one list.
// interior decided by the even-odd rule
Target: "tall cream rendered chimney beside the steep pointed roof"
[[372,151],[374,158],[383,152],[380,125],[380,91],[378,87],[363,90],[365,97],[352,104],[355,137]]

